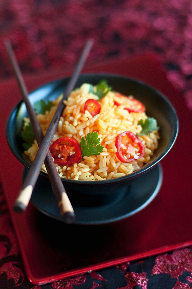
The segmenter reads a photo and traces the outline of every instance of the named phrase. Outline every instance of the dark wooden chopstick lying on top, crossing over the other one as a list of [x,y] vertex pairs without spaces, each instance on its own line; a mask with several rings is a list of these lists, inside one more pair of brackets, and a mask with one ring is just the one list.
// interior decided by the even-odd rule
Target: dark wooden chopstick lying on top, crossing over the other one
[[[84,66],[84,63],[88,57],[88,54],[91,50],[91,47],[93,45],[93,40],[88,40],[82,55],[80,56],[80,59],[77,63],[77,66],[75,68],[75,71],[71,77],[71,79],[69,80],[69,83],[67,85],[67,88],[64,92],[64,96],[62,98],[62,100],[60,101],[60,104],[58,105],[58,108],[53,116],[53,119],[47,129],[47,132],[39,146],[38,152],[36,154],[36,157],[31,165],[31,168],[29,170],[29,173],[27,174],[25,181],[23,182],[23,186],[21,188],[21,191],[19,192],[19,196],[17,197],[15,204],[14,204],[14,208],[17,208],[17,210],[20,211],[24,211],[25,208],[27,207],[29,200],[31,198],[32,195],[32,191],[34,189],[34,186],[36,184],[36,181],[38,179],[39,176],[39,172],[41,170],[41,166],[45,160],[45,157],[47,155],[47,152],[49,151],[49,147],[51,145],[51,141],[53,140],[53,136],[55,134],[55,131],[57,129],[58,126],[58,121],[60,119],[60,116],[64,110],[64,99],[67,99],[69,97],[69,94],[71,93],[71,90],[73,90],[75,83],[80,75],[80,72]],[[63,197],[63,195],[62,195]]]

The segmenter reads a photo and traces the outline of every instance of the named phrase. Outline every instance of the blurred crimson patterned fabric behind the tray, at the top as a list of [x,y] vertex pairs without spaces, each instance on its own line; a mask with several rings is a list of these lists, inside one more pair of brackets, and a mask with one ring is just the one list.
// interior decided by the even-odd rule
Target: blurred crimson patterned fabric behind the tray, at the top
[[75,64],[93,37],[89,63],[157,55],[192,108],[191,0],[1,0],[0,77],[13,74],[3,45],[10,38],[23,73]]

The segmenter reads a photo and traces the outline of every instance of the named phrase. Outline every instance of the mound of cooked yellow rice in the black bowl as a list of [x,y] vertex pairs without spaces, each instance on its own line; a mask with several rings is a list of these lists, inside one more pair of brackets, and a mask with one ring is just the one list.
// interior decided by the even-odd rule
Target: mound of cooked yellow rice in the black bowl
[[[71,166],[59,166],[56,164],[57,171],[61,178],[75,180],[105,180],[113,179],[129,175],[139,170],[146,162],[148,162],[158,147],[159,134],[153,131],[148,136],[138,136],[145,147],[145,155],[134,162],[120,162],[116,156],[117,148],[115,147],[116,137],[124,131],[131,131],[139,134],[142,130],[139,120],[145,120],[147,115],[145,112],[131,112],[124,110],[123,105],[114,105],[115,92],[108,94],[99,101],[101,111],[94,117],[88,111],[84,113],[84,103],[87,99],[97,99],[96,95],[87,93],[87,88],[82,85],[80,88],[71,92],[67,101],[64,101],[66,108],[58,123],[57,131],[54,135],[53,142],[62,137],[73,137],[80,143],[81,138],[85,137],[92,131],[98,131],[100,144],[104,150],[100,155],[84,157],[80,163]],[[37,115],[43,134],[45,135],[47,128],[53,118],[57,106],[61,100],[58,97],[53,101],[54,106],[45,115]],[[24,125],[29,123],[29,119],[24,119]],[[32,147],[25,151],[25,154],[31,161],[34,160],[38,151],[36,140]],[[47,172],[43,164],[42,170]]]

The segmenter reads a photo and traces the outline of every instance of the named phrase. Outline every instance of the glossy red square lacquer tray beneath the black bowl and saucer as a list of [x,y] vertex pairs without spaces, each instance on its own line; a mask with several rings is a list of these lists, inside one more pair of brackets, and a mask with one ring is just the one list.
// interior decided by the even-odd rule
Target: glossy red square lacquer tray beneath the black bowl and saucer
[[[84,71],[119,73],[157,88],[176,108],[180,131],[162,162],[164,179],[158,196],[136,215],[98,226],[66,225],[44,216],[31,204],[24,214],[18,215],[12,211],[12,205],[21,188],[23,166],[8,147],[5,123],[21,97],[14,79],[1,83],[1,179],[25,270],[29,280],[36,285],[192,244],[192,115],[184,100],[173,89],[158,62],[149,55],[105,63]],[[60,70],[26,76],[25,81],[31,91],[68,74]]]

